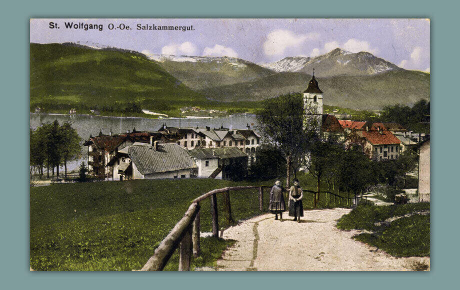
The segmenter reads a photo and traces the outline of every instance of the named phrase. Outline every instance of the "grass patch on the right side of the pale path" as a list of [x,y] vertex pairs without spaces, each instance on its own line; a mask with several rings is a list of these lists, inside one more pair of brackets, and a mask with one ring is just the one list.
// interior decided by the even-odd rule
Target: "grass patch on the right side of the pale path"
[[[367,230],[354,238],[386,253],[398,256],[429,256],[429,203],[413,203],[393,206],[359,205],[337,223],[342,230]],[[410,216],[402,217],[406,214]],[[402,217],[390,223],[382,223],[392,217]]]

